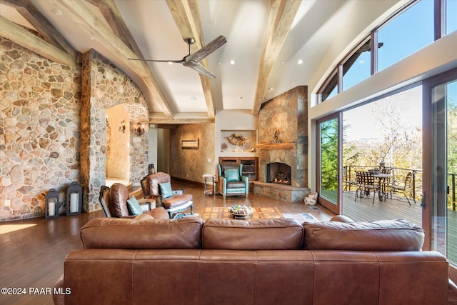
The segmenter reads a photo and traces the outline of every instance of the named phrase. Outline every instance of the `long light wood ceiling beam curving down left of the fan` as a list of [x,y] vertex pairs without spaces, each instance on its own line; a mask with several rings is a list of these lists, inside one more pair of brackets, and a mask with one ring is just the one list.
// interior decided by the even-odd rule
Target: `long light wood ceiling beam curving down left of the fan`
[[[161,91],[159,83],[149,66],[144,61],[129,61],[129,58],[135,58],[138,54],[132,51],[129,46],[124,44],[114,32],[106,26],[81,0],[46,0],[49,5],[66,11],[66,16],[79,25],[81,30],[89,36],[97,39],[111,54],[117,57],[121,64],[128,66],[131,73],[143,81],[143,94],[149,103],[153,101],[161,106],[166,117],[173,117],[171,107],[166,101],[164,93]],[[146,90],[146,92],[145,92]]]

